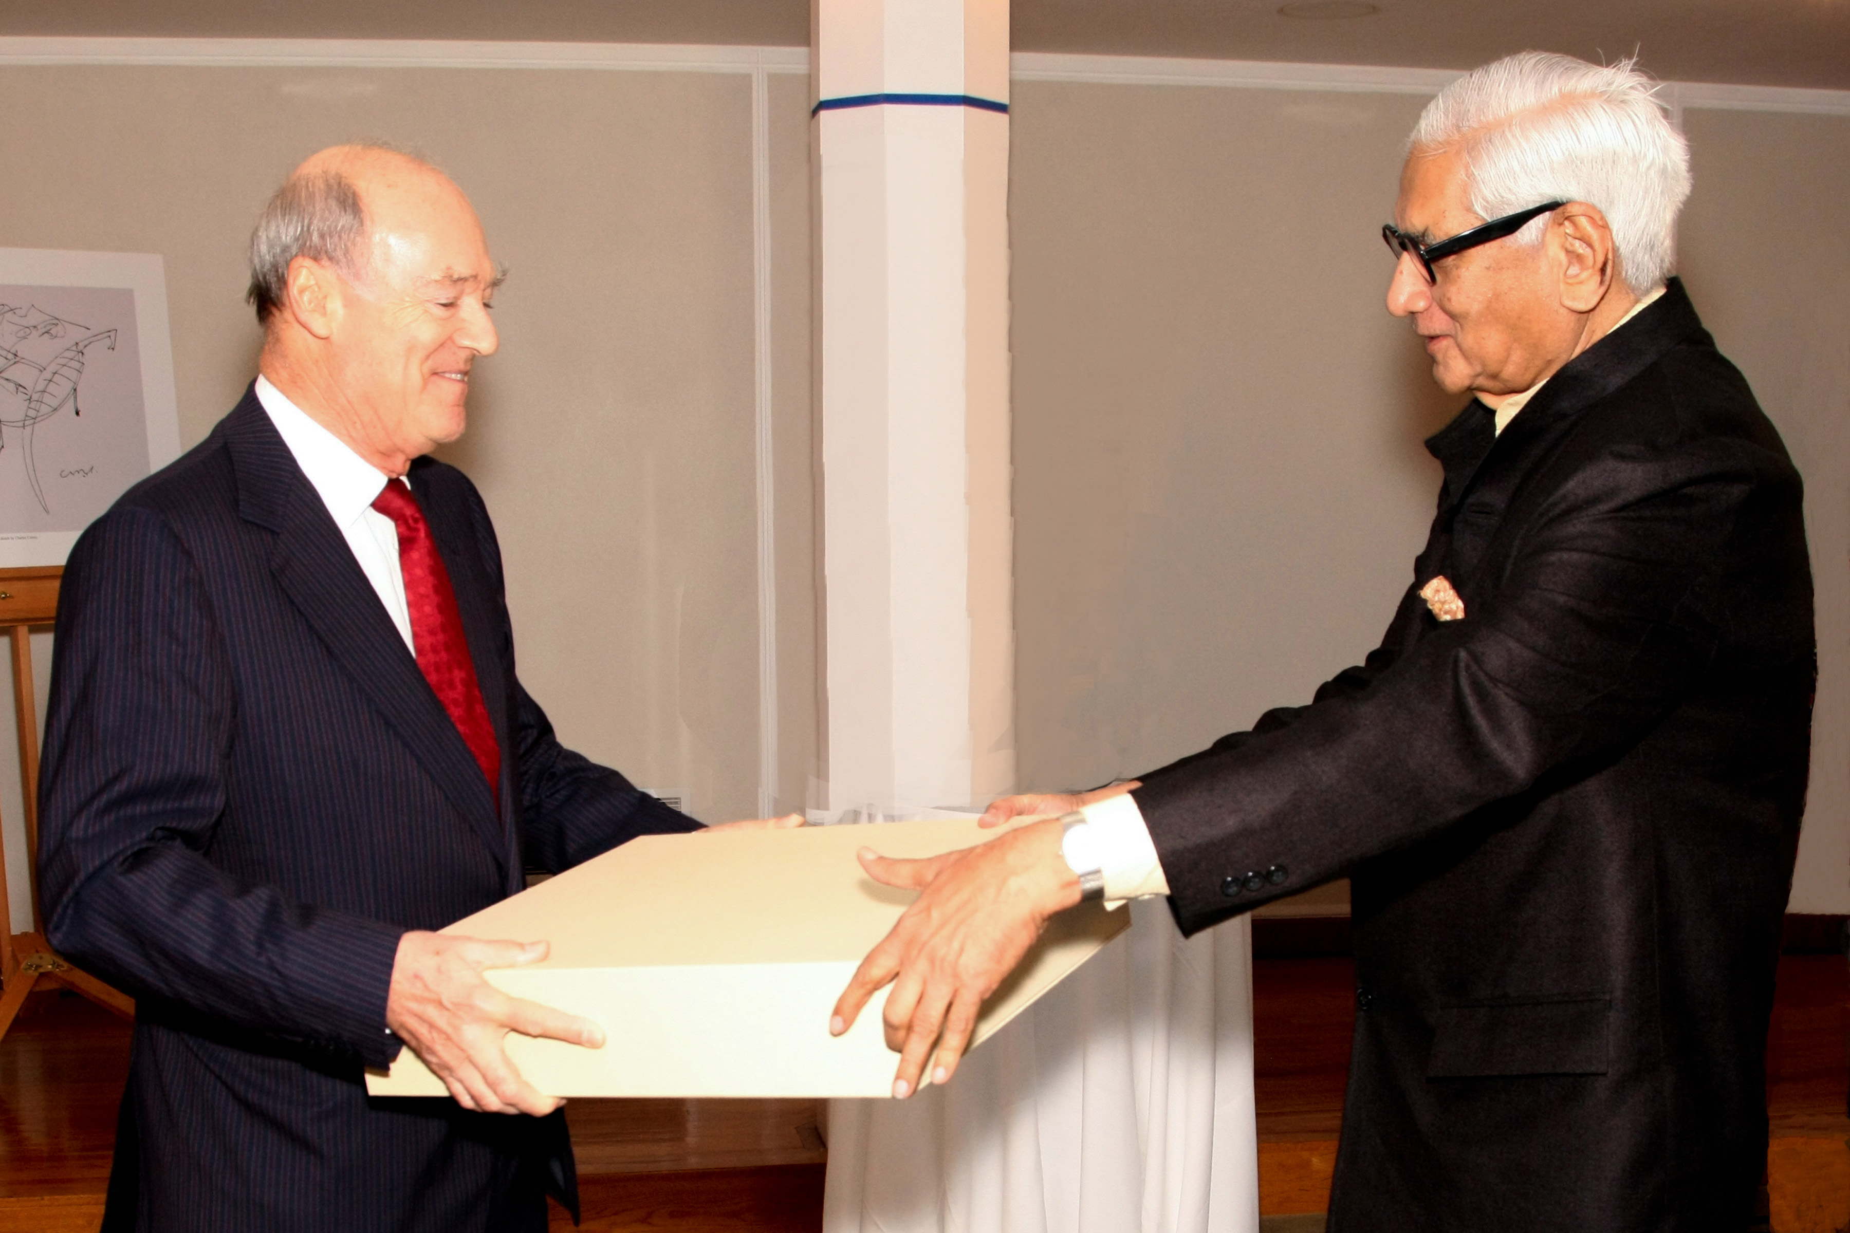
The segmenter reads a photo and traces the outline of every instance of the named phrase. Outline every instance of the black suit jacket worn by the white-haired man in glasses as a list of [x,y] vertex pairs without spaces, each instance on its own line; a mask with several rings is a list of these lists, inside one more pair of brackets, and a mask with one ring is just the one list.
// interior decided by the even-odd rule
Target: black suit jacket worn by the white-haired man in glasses
[[1380,649],[1136,791],[1177,919],[1354,880],[1332,1229],[1741,1229],[1809,760],[1798,473],[1676,281],[1500,438],[1473,403],[1428,447]]

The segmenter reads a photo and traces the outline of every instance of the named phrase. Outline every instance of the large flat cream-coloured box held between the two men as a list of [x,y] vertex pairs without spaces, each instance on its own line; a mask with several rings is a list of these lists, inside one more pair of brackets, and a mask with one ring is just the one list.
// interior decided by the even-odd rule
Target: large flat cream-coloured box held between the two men
[[[868,878],[855,852],[934,856],[995,837],[975,819],[633,839],[451,924],[446,934],[551,943],[544,963],[488,980],[603,1024],[607,1044],[507,1037],[551,1096],[890,1096],[899,1056],[882,989],[842,1037],[829,1013],[912,891]],[[975,1043],[1130,924],[1082,904],[1054,917],[984,1004]],[[374,1096],[442,1096],[407,1048]]]

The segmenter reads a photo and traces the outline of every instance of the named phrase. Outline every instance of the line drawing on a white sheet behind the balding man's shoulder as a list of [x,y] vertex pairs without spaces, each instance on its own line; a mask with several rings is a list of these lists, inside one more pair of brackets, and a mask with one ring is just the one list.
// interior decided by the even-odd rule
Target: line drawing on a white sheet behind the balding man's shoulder
[[176,457],[161,257],[0,248],[0,568],[65,564]]

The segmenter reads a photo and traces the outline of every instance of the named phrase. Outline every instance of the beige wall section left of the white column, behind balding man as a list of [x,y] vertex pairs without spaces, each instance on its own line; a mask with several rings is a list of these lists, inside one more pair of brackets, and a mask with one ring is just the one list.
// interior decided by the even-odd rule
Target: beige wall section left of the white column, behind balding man
[[[779,799],[801,808],[807,78],[771,87],[779,542],[796,569]],[[33,139],[0,194],[0,244],[165,257],[183,446],[253,375],[242,248],[289,168],[353,137],[446,166],[511,270],[501,353],[477,368],[470,433],[444,457],[494,512],[522,678],[575,749],[686,793],[705,819],[757,810],[749,74],[7,68],[0,113]],[[15,887],[17,800],[0,797]]]

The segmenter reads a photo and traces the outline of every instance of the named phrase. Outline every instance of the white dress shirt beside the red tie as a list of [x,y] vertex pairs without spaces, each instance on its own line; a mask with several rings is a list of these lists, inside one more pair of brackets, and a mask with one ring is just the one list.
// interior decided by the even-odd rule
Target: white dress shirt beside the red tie
[[411,608],[405,604],[405,575],[398,568],[398,525],[372,508],[374,499],[392,479],[353,453],[353,447],[309,418],[309,412],[290,403],[268,377],[257,377],[257,401],[270,423],[283,436],[296,466],[309,477],[322,505],[340,527],[353,560],[359,562],[387,616],[398,627],[398,636],[416,656],[411,640]]

